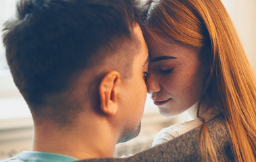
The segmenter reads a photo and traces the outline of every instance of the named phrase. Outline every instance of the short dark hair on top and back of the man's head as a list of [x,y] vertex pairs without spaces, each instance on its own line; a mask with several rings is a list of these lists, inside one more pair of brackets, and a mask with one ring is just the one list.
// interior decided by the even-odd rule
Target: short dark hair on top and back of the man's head
[[20,1],[16,18],[5,23],[3,44],[24,99],[40,105],[47,94],[66,90],[93,60],[111,57],[103,51],[132,39],[139,18],[133,0]]

